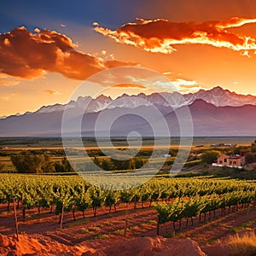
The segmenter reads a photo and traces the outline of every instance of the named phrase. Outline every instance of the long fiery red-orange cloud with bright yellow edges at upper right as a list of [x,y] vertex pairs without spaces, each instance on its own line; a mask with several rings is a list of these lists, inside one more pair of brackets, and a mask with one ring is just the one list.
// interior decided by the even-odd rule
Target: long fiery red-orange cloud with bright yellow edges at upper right
[[233,17],[229,20],[209,20],[202,23],[172,22],[169,20],[137,19],[117,30],[96,26],[96,32],[102,33],[121,44],[130,44],[149,52],[170,54],[177,44],[208,44],[224,47],[247,55],[256,50],[256,38],[229,32],[229,28],[256,23],[256,19]]

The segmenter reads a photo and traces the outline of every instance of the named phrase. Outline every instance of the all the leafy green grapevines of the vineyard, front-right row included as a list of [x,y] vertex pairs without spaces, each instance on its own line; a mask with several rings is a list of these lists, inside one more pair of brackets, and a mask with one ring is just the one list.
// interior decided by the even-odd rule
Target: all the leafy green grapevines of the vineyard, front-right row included
[[[117,180],[118,181],[118,180]],[[106,190],[96,188],[79,176],[44,176],[1,174],[0,204],[5,210],[22,212],[26,220],[26,210],[37,208],[38,212],[48,208],[49,212],[59,214],[62,225],[65,212],[82,212],[85,218],[86,210],[97,215],[100,207],[108,211],[119,211],[121,204],[132,204],[136,209],[144,205],[154,205],[160,224],[172,222],[181,224],[181,219],[189,220],[201,215],[203,221],[206,215],[211,219],[215,211],[237,210],[238,206],[247,207],[255,203],[256,184],[247,181],[226,180],[217,178],[167,178],[154,177],[148,183],[130,190]],[[2,209],[3,209],[2,207]],[[232,207],[232,208],[231,208]],[[60,226],[61,227],[61,226]]]

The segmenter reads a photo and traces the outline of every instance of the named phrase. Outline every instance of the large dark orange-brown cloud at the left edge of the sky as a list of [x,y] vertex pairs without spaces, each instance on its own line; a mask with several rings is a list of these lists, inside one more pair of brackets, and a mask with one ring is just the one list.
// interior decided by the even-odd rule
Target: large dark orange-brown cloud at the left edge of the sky
[[83,80],[108,67],[131,65],[75,49],[71,38],[59,32],[24,26],[0,34],[0,73],[20,79],[34,79],[46,72],[61,73],[68,79]]

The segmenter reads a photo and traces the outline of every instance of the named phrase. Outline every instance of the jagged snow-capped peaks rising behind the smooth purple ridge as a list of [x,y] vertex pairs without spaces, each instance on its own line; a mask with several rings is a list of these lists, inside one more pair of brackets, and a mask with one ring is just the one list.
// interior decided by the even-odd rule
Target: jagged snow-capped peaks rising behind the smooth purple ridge
[[[160,97],[162,98],[162,96],[166,97],[167,102],[163,101],[162,99],[160,101]],[[143,104],[144,102],[142,101],[142,99],[147,101],[148,104]],[[153,93],[151,95],[139,93],[137,95],[131,96],[128,96],[124,93],[122,96],[118,96],[115,99],[111,98],[110,96],[104,95],[97,96],[96,98],[92,98],[91,96],[79,96],[76,101],[70,101],[67,102],[67,104],[56,103],[54,105],[42,106],[35,112],[26,112],[24,114],[51,113],[55,111],[63,111],[65,108],[83,108],[84,104],[87,104],[88,102],[90,102],[90,104],[88,108],[86,108],[85,113],[96,113],[98,111],[102,111],[105,108],[137,108],[142,105],[163,105],[167,107],[169,105],[169,102],[173,101],[177,104],[172,107],[180,108],[184,105],[189,105],[198,99],[202,99],[205,102],[212,103],[216,107],[240,107],[247,104],[256,105],[256,96],[237,94],[234,91],[224,90],[222,87],[217,86],[212,88],[211,90],[201,89],[195,93],[188,93],[183,95],[175,91],[172,93]],[[2,117],[2,119],[6,118],[8,118],[8,116]]]

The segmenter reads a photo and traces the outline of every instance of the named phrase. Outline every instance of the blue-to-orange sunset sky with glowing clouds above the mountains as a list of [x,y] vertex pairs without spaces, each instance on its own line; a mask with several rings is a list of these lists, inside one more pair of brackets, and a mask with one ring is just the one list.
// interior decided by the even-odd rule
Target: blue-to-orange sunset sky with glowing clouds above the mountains
[[91,75],[133,65],[181,93],[256,96],[255,9],[253,0],[1,1],[0,117],[66,103]]

